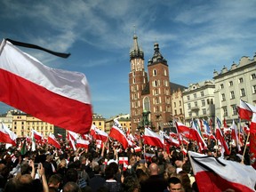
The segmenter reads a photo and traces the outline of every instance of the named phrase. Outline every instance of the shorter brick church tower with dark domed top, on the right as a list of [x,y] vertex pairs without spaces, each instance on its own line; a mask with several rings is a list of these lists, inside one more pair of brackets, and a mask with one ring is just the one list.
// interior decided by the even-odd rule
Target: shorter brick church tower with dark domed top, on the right
[[148,60],[150,117],[156,131],[172,120],[172,94],[167,60],[154,44],[154,55]]

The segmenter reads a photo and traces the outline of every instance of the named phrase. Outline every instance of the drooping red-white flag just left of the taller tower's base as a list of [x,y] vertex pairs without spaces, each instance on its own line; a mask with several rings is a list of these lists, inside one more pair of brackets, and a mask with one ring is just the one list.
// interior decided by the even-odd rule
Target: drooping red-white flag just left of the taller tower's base
[[124,149],[128,148],[129,141],[127,140],[124,132],[121,130],[121,125],[118,123],[116,119],[114,120],[114,124],[110,129],[108,136],[120,142]]

